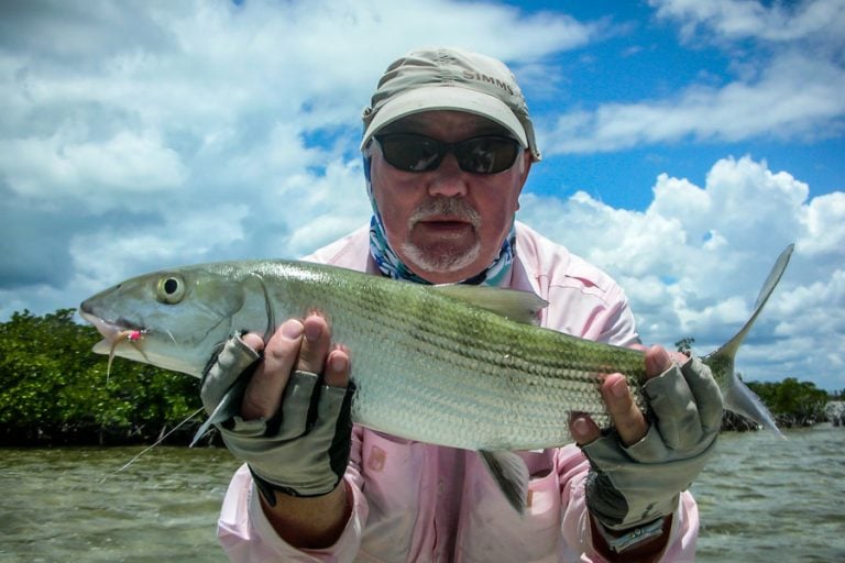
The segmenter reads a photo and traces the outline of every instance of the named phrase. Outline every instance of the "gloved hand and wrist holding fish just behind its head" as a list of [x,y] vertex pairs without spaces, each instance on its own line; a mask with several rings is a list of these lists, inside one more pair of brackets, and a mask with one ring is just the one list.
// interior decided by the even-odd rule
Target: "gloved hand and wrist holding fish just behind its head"
[[349,352],[331,344],[318,314],[286,321],[266,344],[254,333],[232,338],[204,377],[207,410],[261,352],[240,416],[218,428],[232,454],[249,464],[283,539],[298,548],[331,544],[350,510],[345,487],[338,486],[351,445]]

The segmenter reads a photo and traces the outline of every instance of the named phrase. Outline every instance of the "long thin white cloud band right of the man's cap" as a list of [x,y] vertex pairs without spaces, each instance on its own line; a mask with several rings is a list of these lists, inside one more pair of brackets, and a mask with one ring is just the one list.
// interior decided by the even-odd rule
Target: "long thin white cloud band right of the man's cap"
[[547,154],[614,152],[644,144],[827,137],[845,121],[845,69],[798,53],[778,56],[753,81],[692,86],[678,96],[605,103],[561,115],[545,132]]

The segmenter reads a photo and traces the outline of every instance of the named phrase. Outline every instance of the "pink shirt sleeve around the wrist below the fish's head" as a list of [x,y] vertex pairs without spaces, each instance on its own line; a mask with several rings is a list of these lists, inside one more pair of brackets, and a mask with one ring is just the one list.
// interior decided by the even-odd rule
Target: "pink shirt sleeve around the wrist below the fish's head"
[[321,550],[300,551],[279,538],[264,515],[252,475],[246,464],[243,464],[229,483],[218,519],[217,536],[229,560],[233,563],[353,561],[361,545],[367,515],[358,472],[360,432],[361,430],[354,427],[350,465],[343,477],[343,486],[352,498],[352,515],[333,545]]

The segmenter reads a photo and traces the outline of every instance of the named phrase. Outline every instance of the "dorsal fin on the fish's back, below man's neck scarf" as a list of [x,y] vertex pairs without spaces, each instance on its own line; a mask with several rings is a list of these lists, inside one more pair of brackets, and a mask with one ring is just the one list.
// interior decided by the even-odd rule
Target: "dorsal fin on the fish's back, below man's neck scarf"
[[470,286],[447,284],[434,286],[434,289],[465,303],[494,312],[506,319],[525,324],[537,324],[538,313],[548,301],[533,291],[503,289],[490,286]]

